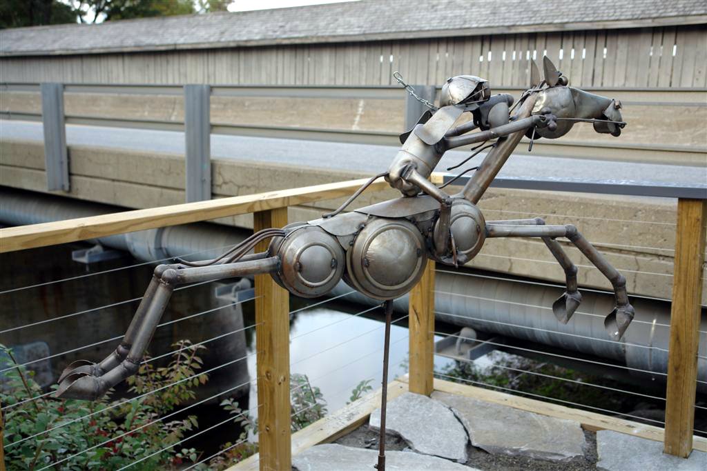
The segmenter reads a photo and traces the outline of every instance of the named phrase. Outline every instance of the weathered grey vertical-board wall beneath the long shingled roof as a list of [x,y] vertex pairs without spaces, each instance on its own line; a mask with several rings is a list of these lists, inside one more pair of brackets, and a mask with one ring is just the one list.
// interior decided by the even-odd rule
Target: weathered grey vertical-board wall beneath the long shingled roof
[[0,81],[258,85],[439,85],[473,73],[494,87],[529,83],[547,54],[583,88],[702,88],[707,26],[588,30],[325,45],[0,59]]

